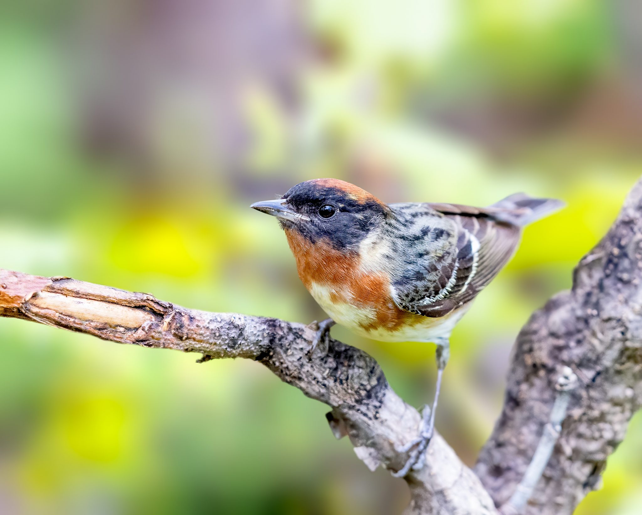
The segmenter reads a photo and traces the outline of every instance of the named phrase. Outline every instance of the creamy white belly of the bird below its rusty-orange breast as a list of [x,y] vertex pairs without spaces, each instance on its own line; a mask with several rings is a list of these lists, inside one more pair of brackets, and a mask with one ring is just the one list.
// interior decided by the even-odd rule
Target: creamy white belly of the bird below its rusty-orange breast
[[[350,302],[336,302],[336,300],[333,302],[331,301],[331,290],[317,283],[312,284],[310,293],[339,325],[360,336],[385,342],[433,342],[438,338],[447,338],[468,309],[467,305],[441,318],[422,317],[419,323],[403,325],[394,331],[385,327],[366,330],[363,326],[376,325],[373,324],[376,322],[374,308],[360,308]],[[342,296],[349,298],[349,293],[345,291],[341,293]]]

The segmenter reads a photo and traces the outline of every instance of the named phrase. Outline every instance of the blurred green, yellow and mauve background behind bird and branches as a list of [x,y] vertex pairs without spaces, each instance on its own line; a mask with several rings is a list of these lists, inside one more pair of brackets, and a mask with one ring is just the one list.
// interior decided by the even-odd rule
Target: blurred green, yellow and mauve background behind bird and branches
[[[510,346],[642,173],[642,6],[596,0],[10,0],[0,6],[0,267],[308,322],[250,210],[331,176],[385,201],[568,207],[529,227],[453,334],[437,428],[473,464]],[[415,405],[433,346],[333,335]],[[0,512],[391,514],[403,482],[245,360],[0,320]],[[578,513],[639,513],[636,416]]]

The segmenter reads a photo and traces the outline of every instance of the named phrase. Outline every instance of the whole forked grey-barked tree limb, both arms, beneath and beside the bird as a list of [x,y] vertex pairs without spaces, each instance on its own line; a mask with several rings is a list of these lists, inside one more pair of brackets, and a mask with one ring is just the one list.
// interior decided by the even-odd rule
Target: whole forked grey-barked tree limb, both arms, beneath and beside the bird
[[[568,416],[525,513],[573,512],[598,484],[642,401],[641,281],[639,182],[609,233],[578,264],[573,289],[535,312],[519,333],[503,412],[475,473],[436,434],[426,466],[405,478],[412,492],[407,513],[497,514],[495,506],[508,512],[508,499],[550,425],[555,384],[566,366],[580,385],[564,399]],[[370,469],[401,469],[407,457],[398,449],[419,431],[419,413],[392,391],[372,357],[334,340],[327,353],[310,354],[313,330],[297,323],[191,310],[148,294],[3,269],[0,316],[119,343],[199,352],[200,361],[256,360],[329,405],[334,435],[348,435]]]

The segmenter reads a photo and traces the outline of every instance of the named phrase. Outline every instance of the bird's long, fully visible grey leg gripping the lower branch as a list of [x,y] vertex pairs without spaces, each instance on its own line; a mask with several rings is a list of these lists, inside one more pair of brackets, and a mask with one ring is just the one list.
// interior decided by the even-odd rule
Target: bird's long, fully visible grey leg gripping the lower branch
[[416,438],[402,448],[398,449],[399,452],[410,452],[410,458],[406,461],[406,464],[403,468],[393,475],[394,477],[404,477],[410,472],[410,469],[419,470],[424,466],[426,461],[426,450],[428,450],[428,444],[430,439],[433,437],[433,432],[435,430],[435,412],[437,412],[437,402],[439,400],[439,391],[441,389],[442,375],[444,374],[444,368],[450,357],[450,344],[447,338],[440,338],[435,341],[437,344],[437,386],[435,387],[435,399],[433,400],[433,407],[429,408],[428,405],[424,406],[422,410],[422,421],[421,421],[421,432],[419,433],[419,438]]

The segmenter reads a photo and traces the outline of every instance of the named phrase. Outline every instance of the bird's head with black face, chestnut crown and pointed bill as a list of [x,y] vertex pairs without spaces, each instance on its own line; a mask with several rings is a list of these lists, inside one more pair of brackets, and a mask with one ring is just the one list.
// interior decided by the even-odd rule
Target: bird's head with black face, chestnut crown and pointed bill
[[338,179],[302,182],[280,199],[250,207],[277,217],[288,239],[298,235],[311,244],[324,242],[338,251],[355,249],[390,213],[374,195]]

